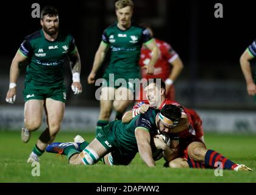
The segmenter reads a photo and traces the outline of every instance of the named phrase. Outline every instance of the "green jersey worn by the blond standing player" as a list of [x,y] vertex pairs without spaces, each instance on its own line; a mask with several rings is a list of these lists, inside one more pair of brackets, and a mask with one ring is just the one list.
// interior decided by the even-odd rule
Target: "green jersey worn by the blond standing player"
[[141,26],[133,25],[127,30],[118,28],[117,23],[109,26],[102,34],[102,41],[111,49],[107,73],[127,77],[129,73],[140,73],[140,49],[143,43],[151,41],[148,31]]

